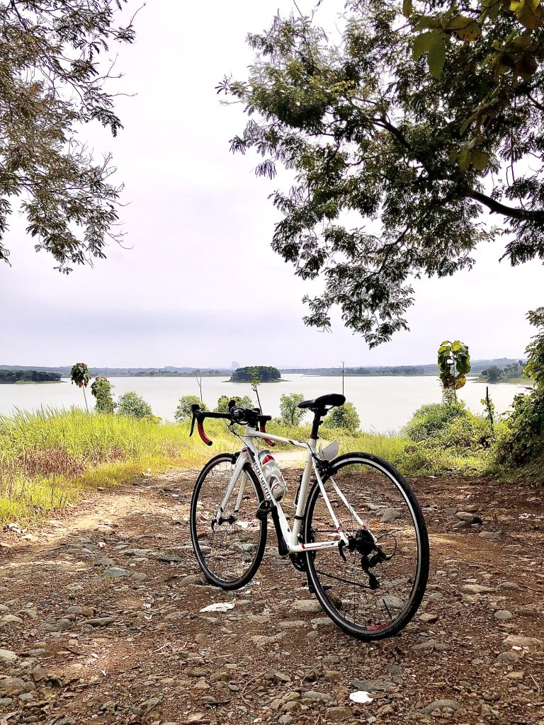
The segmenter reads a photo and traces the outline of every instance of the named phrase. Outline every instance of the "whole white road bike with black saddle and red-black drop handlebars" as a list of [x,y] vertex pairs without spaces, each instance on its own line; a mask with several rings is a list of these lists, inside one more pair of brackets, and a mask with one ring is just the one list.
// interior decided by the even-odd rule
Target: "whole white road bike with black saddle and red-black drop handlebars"
[[[421,508],[403,476],[367,453],[337,455],[338,444],[318,448],[318,430],[339,394],[306,400],[313,412],[308,442],[265,431],[270,415],[236,407],[211,413],[192,406],[207,445],[205,418],[221,418],[242,443],[235,453],[211,458],[191,499],[191,540],[200,568],[215,586],[239,589],[250,582],[265,551],[268,517],[278,551],[308,576],[326,614],[348,634],[366,641],[397,634],[416,613],[429,575],[429,539]],[[236,432],[245,426],[244,433]],[[259,445],[276,442],[306,450],[292,515],[273,497]]]

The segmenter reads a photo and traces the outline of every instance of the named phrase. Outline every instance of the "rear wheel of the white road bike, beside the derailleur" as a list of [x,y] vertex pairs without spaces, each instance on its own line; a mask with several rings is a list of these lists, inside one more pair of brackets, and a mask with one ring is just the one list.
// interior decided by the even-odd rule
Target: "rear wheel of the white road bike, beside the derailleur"
[[[329,617],[367,641],[397,634],[416,613],[429,576],[429,539],[412,489],[390,463],[349,453],[324,489],[347,545],[308,552],[308,580]],[[306,507],[304,540],[338,539],[321,488]]]

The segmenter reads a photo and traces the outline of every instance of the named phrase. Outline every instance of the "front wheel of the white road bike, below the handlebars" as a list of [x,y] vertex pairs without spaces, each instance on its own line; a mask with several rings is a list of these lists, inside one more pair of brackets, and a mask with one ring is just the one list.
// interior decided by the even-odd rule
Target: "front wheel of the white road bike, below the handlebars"
[[239,589],[251,581],[263,559],[266,520],[255,515],[263,499],[245,465],[223,510],[236,455],[221,453],[202,468],[191,499],[191,541],[200,568],[216,587]]

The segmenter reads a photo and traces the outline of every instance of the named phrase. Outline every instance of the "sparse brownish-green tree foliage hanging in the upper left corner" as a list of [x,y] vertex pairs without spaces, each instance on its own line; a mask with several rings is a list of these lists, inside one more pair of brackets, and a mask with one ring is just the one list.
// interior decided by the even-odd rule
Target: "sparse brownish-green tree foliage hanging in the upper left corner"
[[104,257],[118,222],[120,187],[110,156],[95,161],[81,126],[97,120],[122,128],[107,89],[109,45],[131,43],[115,25],[126,0],[11,0],[0,6],[0,260],[9,215],[18,200],[36,249],[57,269]]

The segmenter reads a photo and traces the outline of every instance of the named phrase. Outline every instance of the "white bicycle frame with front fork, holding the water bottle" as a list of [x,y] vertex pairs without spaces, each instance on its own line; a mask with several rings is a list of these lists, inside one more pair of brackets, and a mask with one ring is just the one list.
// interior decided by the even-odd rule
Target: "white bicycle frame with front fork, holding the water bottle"
[[[279,542],[279,550],[282,555],[287,554],[299,554],[302,552],[308,552],[318,549],[337,549],[339,547],[340,542],[344,542],[347,544],[347,537],[342,531],[342,525],[339,523],[337,515],[334,513],[334,510],[332,509],[331,502],[329,501],[329,497],[326,494],[325,486],[323,485],[323,480],[321,479],[321,475],[318,470],[318,466],[316,465],[316,442],[310,438],[310,442],[303,442],[303,441],[296,441],[292,440],[290,438],[282,438],[281,436],[274,436],[270,433],[261,433],[260,431],[257,431],[256,428],[247,427],[245,430],[245,433],[242,437],[242,440],[244,442],[244,447],[242,447],[241,452],[239,453],[237,459],[236,459],[236,465],[234,466],[234,471],[231,476],[231,480],[228,483],[227,490],[225,493],[225,496],[223,497],[223,500],[221,501],[221,505],[218,508],[218,512],[215,514],[215,521],[218,521],[221,514],[223,513],[223,510],[226,509],[226,505],[228,502],[228,499],[231,497],[234,487],[236,486],[236,481],[238,480],[240,474],[243,471],[244,465],[246,463],[250,463],[252,465],[253,470],[257,474],[257,478],[259,479],[259,483],[261,488],[263,489],[263,493],[265,494],[265,500],[268,502],[271,502],[272,510],[271,513],[273,515],[273,521],[276,524],[276,533],[278,534],[278,542]],[[263,467],[260,465],[259,455],[258,455],[258,449],[255,445],[254,439],[255,438],[263,438],[269,441],[279,442],[279,443],[289,443],[292,446],[298,447],[298,448],[305,448],[307,450],[306,453],[306,462],[304,466],[304,471],[302,473],[302,480],[300,482],[300,489],[299,489],[299,495],[297,500],[297,510],[294,515],[294,523],[292,528],[289,526],[289,523],[287,521],[287,518],[284,514],[283,509],[281,508],[280,502],[276,501],[276,499],[273,497],[270,486],[268,485],[268,481],[266,480],[266,476],[263,472]],[[306,508],[306,500],[308,498],[308,486],[310,484],[310,476],[313,473],[316,476],[316,481],[318,482],[318,486],[321,489],[321,494],[323,495],[323,500],[326,503],[326,507],[329,509],[329,513],[331,515],[331,520],[334,523],[334,527],[337,531],[338,538],[334,539],[332,541],[328,542],[311,542],[310,544],[302,544],[300,543],[300,530],[302,527],[302,521],[304,520],[304,513]],[[242,505],[242,497],[244,496],[244,490],[246,486],[247,477],[242,476],[241,482],[239,484],[239,492],[236,496],[236,505],[234,507],[234,515],[239,511],[240,506]],[[353,509],[353,507],[350,505],[350,503],[346,500],[344,494],[340,491],[337,484],[335,483],[334,479],[331,479],[331,484],[337,494],[339,495],[342,502],[346,505],[347,509],[350,511],[352,515],[355,516],[356,520],[360,524],[360,526],[363,529],[366,529],[367,527],[363,523],[363,521],[360,520],[360,517],[356,513],[356,511]],[[274,513],[275,512],[275,513]],[[284,547],[281,546],[282,542],[281,539],[283,539]]]

